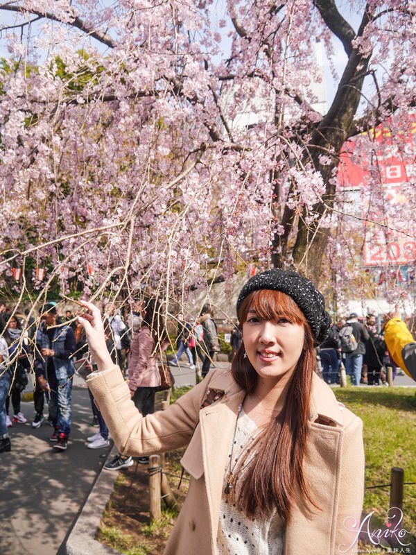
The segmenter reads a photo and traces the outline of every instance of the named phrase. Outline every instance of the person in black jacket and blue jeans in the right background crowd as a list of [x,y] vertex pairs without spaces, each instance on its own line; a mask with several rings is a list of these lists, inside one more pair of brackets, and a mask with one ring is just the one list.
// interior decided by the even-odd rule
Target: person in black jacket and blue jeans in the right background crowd
[[347,374],[354,377],[354,385],[356,386],[361,382],[365,341],[369,338],[370,336],[363,324],[358,322],[358,315],[355,312],[350,314],[345,326],[340,331],[340,342],[345,355]]

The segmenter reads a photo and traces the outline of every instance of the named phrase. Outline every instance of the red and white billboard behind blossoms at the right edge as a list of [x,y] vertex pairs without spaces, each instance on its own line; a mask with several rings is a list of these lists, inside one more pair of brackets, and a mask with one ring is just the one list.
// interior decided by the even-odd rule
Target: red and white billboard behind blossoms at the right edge
[[[406,135],[394,136],[387,125],[379,126],[347,142],[340,156],[338,180],[350,200],[345,212],[363,222],[364,266],[408,265],[416,259],[415,222],[396,217],[404,213],[406,190],[413,185],[415,135],[416,121]],[[371,149],[363,148],[370,155],[358,153],[363,140],[372,143]]]

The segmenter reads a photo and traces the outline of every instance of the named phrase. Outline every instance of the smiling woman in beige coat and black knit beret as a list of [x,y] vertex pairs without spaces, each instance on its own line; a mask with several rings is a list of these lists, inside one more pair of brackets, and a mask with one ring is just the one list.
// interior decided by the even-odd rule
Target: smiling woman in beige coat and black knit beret
[[143,418],[105,352],[93,305],[82,320],[100,373],[87,378],[127,454],[188,445],[189,493],[165,554],[353,553],[363,504],[362,422],[313,372],[324,299],[299,274],[254,276],[237,301],[243,343],[165,411]]

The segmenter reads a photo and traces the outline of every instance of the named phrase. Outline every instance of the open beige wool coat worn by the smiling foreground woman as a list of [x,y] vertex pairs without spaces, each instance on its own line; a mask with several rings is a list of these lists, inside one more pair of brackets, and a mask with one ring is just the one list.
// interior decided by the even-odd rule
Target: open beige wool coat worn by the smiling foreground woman
[[[191,483],[164,554],[215,555],[228,448],[245,391],[228,370],[211,370],[175,404],[144,418],[130,400],[118,366],[90,375],[87,384],[122,453],[146,456],[188,445],[181,462]],[[211,389],[224,394],[201,409]],[[353,553],[353,524],[356,520],[359,527],[363,506],[363,423],[317,375],[309,418],[304,474],[322,510],[311,512],[306,502],[295,502],[286,523],[284,555]]]

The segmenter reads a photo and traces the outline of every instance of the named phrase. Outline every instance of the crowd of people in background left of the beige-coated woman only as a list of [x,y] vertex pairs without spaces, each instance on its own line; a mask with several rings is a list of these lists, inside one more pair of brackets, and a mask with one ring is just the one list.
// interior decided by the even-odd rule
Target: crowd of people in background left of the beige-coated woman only
[[[155,410],[155,392],[159,383],[157,365],[170,341],[159,316],[159,304],[155,300],[146,306],[133,305],[123,317],[115,307],[103,306],[107,348],[114,364],[127,372],[132,398],[144,413]],[[37,321],[19,313],[16,309],[0,303],[0,452],[11,449],[8,428],[14,424],[26,424],[28,418],[21,411],[21,393],[28,386],[28,374],[33,371],[34,416],[31,426],[40,428],[45,421],[45,401],[48,407],[46,422],[53,427],[50,437],[55,450],[66,450],[71,434],[73,375],[94,364],[88,358],[88,345],[83,326],[70,309],[64,316],[58,314],[56,302],[42,307]],[[157,337],[150,334],[150,327],[160,318]],[[207,375],[219,339],[211,307],[204,305],[198,320],[184,321],[182,314],[177,318],[176,355],[171,364],[178,364],[186,352],[191,368],[201,369],[198,377]],[[156,347],[157,350],[156,350]],[[156,352],[154,352],[156,350]],[[200,359],[197,360],[197,357]],[[88,447],[99,449],[110,445],[109,432],[101,412],[96,407],[91,393],[92,424],[99,432],[87,438]],[[10,402],[12,412],[10,411]],[[147,463],[146,457],[139,460]],[[107,470],[118,470],[130,466],[132,460],[117,456],[106,465]]]

